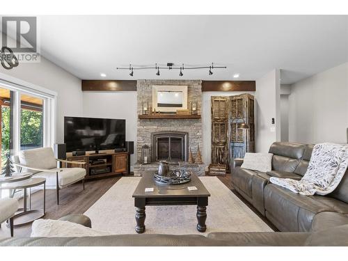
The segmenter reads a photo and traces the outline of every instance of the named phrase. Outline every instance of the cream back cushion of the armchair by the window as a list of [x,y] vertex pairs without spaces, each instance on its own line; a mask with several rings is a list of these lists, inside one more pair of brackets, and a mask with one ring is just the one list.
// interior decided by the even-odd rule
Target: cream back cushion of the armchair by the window
[[[56,158],[52,148],[38,148],[33,150],[21,150],[19,152],[20,164],[33,168],[56,168]],[[38,173],[33,170],[23,170],[24,172]]]

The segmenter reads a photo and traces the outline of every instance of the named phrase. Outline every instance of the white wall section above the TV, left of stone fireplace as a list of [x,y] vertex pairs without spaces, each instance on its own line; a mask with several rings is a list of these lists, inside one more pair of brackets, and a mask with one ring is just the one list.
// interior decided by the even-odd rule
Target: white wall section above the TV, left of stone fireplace
[[[125,119],[126,141],[134,141],[136,150],[136,91],[83,92],[82,97],[84,117]],[[131,166],[134,163],[136,153],[131,155]]]

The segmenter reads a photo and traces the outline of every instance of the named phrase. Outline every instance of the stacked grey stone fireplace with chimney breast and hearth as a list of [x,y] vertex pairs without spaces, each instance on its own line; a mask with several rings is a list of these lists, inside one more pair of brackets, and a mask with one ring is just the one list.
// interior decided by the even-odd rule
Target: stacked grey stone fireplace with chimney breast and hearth
[[[201,114],[202,81],[200,80],[138,80],[137,108],[142,113],[143,102],[152,107],[152,86],[187,86],[187,102],[197,102],[197,112]],[[151,164],[139,164],[141,147],[148,145],[152,156]],[[136,155],[138,163],[134,166],[134,175],[143,171],[157,170],[158,161],[170,161],[171,168],[185,167],[198,175],[204,175],[204,164],[188,164],[189,151],[193,157],[198,149],[203,152],[201,119],[138,119]]]

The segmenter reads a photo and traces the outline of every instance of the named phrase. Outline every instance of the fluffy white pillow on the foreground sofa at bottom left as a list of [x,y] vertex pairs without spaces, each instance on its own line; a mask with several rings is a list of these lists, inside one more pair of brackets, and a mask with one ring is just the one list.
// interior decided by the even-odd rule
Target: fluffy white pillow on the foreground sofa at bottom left
[[38,219],[31,226],[31,237],[99,237],[107,235],[111,234],[62,220]]

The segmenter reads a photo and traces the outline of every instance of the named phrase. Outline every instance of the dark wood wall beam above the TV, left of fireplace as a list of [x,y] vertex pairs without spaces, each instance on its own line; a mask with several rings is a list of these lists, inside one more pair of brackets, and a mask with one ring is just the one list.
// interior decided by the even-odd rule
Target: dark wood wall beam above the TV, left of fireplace
[[127,80],[82,80],[82,91],[136,90],[136,81]]

